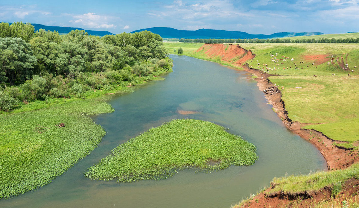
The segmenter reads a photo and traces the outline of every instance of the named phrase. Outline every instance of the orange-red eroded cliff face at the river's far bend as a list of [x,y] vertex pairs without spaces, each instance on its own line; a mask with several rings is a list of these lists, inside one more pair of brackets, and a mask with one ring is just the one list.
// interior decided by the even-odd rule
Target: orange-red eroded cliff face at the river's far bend
[[220,58],[222,61],[239,65],[255,57],[251,50],[247,51],[238,44],[205,43],[196,53],[201,51],[209,58]]

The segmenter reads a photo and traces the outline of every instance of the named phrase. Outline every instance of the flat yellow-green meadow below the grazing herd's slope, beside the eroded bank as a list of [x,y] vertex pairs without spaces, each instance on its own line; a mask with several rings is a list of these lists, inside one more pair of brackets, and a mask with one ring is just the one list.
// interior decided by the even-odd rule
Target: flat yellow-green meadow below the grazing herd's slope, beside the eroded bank
[[[288,116],[328,137],[340,141],[359,140],[358,76],[272,76],[272,83],[283,86]],[[301,87],[301,88],[297,88]]]

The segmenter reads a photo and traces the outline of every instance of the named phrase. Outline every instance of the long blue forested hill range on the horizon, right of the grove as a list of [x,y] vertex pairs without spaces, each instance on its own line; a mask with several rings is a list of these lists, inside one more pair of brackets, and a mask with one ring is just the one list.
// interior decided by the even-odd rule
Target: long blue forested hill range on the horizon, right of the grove
[[151,31],[153,33],[159,34],[162,38],[215,38],[215,39],[232,39],[232,38],[240,38],[240,39],[250,39],[250,38],[259,38],[259,39],[267,39],[267,38],[283,38],[283,37],[292,37],[292,36],[311,36],[323,34],[321,32],[279,32],[273,33],[270,35],[266,34],[249,34],[241,31],[226,31],[219,29],[198,29],[196,31],[190,30],[178,30],[170,27],[152,27],[145,28],[133,31],[131,33],[140,32],[140,31]]

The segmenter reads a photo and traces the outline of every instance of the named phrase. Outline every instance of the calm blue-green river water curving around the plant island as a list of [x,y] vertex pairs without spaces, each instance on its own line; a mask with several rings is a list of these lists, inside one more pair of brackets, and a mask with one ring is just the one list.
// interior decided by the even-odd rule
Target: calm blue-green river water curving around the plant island
[[[320,152],[288,131],[266,103],[250,74],[209,61],[171,55],[173,72],[135,92],[114,97],[111,114],[94,117],[107,135],[89,156],[50,184],[1,200],[0,207],[225,207],[238,203],[273,177],[325,170]],[[181,115],[178,110],[199,111]],[[257,147],[252,166],[211,173],[179,171],[164,180],[131,183],[91,181],[83,176],[117,145],[172,119],[211,121]]]

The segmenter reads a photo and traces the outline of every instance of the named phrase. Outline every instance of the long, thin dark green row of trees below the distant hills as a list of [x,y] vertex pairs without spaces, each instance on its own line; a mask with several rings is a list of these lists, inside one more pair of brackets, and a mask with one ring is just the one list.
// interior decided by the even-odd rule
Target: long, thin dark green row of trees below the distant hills
[[[171,41],[168,39],[167,41]],[[173,39],[172,41],[176,41]],[[289,38],[273,38],[273,39],[185,39],[179,40],[182,43],[359,43],[359,38],[303,38],[303,39],[289,39]]]

